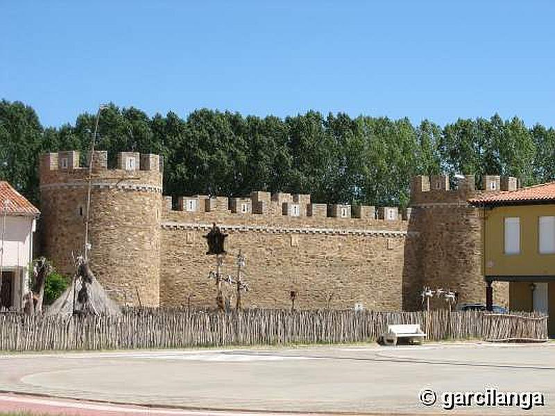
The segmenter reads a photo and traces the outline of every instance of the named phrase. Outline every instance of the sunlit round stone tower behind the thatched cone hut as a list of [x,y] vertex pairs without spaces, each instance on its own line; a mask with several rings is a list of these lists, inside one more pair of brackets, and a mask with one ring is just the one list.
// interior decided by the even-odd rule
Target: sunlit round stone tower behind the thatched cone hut
[[[85,249],[89,168],[79,153],[40,159],[41,243],[56,269],[74,274]],[[160,156],[123,152],[108,169],[108,154],[93,155],[89,216],[92,271],[120,304],[159,306],[162,173]]]

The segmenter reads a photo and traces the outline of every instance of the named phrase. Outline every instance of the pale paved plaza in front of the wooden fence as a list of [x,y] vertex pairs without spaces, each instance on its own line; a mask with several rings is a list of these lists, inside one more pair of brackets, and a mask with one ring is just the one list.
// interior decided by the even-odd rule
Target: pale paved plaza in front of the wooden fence
[[[436,404],[419,394],[431,389]],[[443,413],[443,392],[538,391],[555,415],[555,345],[445,343],[0,356],[0,390],[186,409]],[[0,400],[1,408],[1,400]],[[518,406],[456,413],[522,413]],[[453,411],[448,413],[454,413]]]

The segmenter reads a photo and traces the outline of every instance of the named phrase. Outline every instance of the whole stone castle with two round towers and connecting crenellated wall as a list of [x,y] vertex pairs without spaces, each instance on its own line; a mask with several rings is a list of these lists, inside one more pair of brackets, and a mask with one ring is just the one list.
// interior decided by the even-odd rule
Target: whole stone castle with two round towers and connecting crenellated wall
[[[42,252],[65,275],[83,252],[89,169],[76,151],[40,160]],[[246,257],[246,307],[416,310],[423,286],[450,288],[459,302],[484,302],[481,219],[467,200],[512,190],[513,177],[457,180],[418,176],[410,207],[312,203],[309,195],[255,191],[246,198],[163,196],[158,155],[124,152],[116,168],[96,151],[92,164],[89,258],[112,298],[143,306],[214,306],[214,257],[203,236],[229,234],[223,273]],[[225,288],[234,304],[234,288]],[[506,304],[508,286],[495,288]],[[439,305],[440,300],[434,301]],[[444,301],[441,301],[445,303]],[[446,305],[445,305],[446,306]]]

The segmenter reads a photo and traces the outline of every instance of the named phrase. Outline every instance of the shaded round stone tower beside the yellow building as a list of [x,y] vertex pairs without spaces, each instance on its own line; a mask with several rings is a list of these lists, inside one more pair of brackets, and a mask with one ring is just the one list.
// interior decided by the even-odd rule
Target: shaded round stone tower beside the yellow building
[[[414,228],[420,236],[422,281],[413,286],[420,297],[422,286],[456,291],[458,302],[486,302],[486,283],[482,268],[482,220],[479,210],[468,204],[470,198],[485,192],[516,189],[513,177],[486,175],[484,189],[475,189],[475,176],[456,180],[450,189],[445,175],[417,176],[411,187],[411,207]],[[509,304],[509,286],[495,283],[494,303]],[[420,300],[418,300],[420,302]],[[434,297],[434,306],[445,306],[443,299]]]

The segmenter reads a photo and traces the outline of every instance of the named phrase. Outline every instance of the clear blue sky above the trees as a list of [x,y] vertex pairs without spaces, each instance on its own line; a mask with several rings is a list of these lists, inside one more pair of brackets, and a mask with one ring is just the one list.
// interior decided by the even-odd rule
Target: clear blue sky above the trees
[[0,0],[0,98],[555,125],[553,1]]

